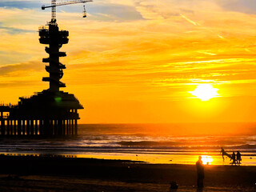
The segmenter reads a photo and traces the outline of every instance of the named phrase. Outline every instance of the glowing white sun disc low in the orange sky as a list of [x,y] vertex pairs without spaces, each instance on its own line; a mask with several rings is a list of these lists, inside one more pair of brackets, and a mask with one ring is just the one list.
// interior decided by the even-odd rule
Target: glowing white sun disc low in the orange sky
[[195,90],[189,92],[202,101],[208,101],[210,98],[218,96],[218,89],[210,84],[200,84]]

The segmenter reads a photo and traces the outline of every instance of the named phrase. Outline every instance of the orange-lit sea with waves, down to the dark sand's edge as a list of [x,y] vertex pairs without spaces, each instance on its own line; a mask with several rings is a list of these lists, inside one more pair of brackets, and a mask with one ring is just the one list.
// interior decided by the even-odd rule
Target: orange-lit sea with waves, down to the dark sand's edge
[[[176,129],[176,131],[172,131]],[[230,165],[222,158],[242,154],[241,166],[256,166],[256,131],[246,134],[177,134],[173,124],[82,124],[77,137],[0,138],[0,154],[131,160],[152,164]],[[232,129],[231,129],[232,130]]]

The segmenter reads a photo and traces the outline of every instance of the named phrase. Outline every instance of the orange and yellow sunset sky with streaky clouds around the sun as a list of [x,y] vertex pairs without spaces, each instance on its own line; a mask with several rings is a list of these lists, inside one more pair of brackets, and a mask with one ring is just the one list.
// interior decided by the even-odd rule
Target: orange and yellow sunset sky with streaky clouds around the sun
[[[44,1],[0,0],[0,101],[48,88],[38,26]],[[256,2],[94,0],[58,7],[70,31],[62,90],[85,110],[80,123],[254,122]],[[208,101],[191,91],[218,89]]]

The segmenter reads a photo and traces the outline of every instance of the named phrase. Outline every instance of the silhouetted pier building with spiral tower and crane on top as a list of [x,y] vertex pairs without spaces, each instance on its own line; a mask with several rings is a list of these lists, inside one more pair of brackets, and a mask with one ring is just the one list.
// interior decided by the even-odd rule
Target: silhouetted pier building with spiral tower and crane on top
[[[51,1],[51,6],[42,6],[42,10],[51,7],[52,18],[46,26],[39,27],[39,42],[46,45],[48,58],[42,58],[46,62],[46,71],[49,77],[42,78],[43,82],[49,82],[49,89],[37,92],[33,96],[19,98],[18,105],[0,106],[0,135],[42,135],[65,136],[78,134],[78,110],[83,106],[74,97],[60,90],[66,87],[60,79],[66,66],[60,62],[66,53],[60,51],[62,45],[69,42],[69,31],[59,30],[56,21],[56,6],[65,6],[74,3],[92,1],[70,1],[56,3]],[[84,7],[83,18],[86,17]]]

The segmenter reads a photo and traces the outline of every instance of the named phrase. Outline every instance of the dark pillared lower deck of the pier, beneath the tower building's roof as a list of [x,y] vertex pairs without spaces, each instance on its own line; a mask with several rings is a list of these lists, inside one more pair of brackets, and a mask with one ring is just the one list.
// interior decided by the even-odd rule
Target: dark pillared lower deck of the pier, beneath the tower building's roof
[[[65,113],[27,115],[21,113],[18,106],[0,106],[1,136],[65,136],[78,134],[78,110],[72,109]],[[58,112],[55,110],[55,112]]]

